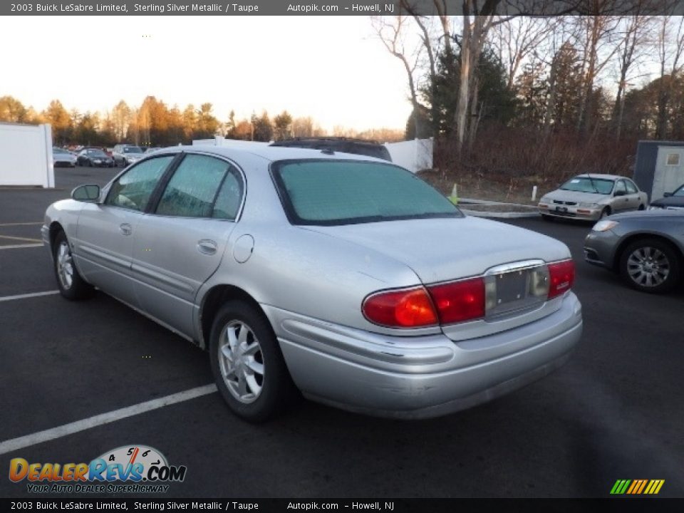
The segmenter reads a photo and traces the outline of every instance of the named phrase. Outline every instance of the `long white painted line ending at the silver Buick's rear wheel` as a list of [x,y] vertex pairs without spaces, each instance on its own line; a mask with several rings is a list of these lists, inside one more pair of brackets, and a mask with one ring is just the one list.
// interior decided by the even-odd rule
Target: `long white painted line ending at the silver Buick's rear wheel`
[[52,429],[45,431],[39,431],[33,433],[32,435],[6,440],[4,442],[0,442],[0,455],[4,455],[8,452],[19,449],[24,449],[24,447],[30,447],[31,445],[55,440],[56,438],[73,435],[76,432],[85,431],[91,427],[113,423],[116,420],[133,417],[133,415],[140,415],[140,413],[156,410],[157,408],[163,408],[164,406],[182,403],[183,401],[202,397],[202,395],[208,395],[217,391],[216,385],[214,384],[190,388],[190,390],[185,390],[184,392],[166,395],[165,397],[152,399],[145,403],[128,406],[128,408],[121,408],[120,410],[102,413],[101,415],[95,415],[95,417],[77,420],[76,422],[53,427]]

